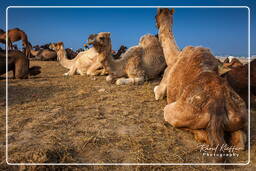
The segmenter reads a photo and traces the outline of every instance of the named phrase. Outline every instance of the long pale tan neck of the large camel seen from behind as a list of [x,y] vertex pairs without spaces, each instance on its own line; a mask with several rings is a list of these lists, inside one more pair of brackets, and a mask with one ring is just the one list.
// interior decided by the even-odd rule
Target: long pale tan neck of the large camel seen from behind
[[160,26],[158,36],[163,48],[167,65],[174,65],[180,50],[176,44],[171,27],[168,27],[167,25]]

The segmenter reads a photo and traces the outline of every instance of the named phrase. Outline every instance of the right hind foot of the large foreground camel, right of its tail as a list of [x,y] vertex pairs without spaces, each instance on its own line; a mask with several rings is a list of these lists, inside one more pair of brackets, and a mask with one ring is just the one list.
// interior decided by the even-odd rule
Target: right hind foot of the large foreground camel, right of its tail
[[230,144],[245,150],[246,134],[242,130],[234,131],[231,133]]

